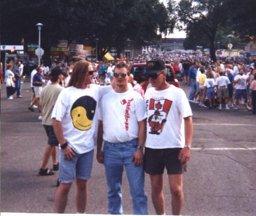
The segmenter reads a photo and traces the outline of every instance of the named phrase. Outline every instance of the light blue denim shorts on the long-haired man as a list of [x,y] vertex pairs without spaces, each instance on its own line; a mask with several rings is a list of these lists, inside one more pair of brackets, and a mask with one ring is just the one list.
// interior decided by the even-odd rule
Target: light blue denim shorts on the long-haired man
[[93,152],[94,149],[83,154],[74,152],[75,156],[70,161],[64,159],[63,153],[59,149],[60,183],[70,184],[74,181],[75,177],[81,180],[89,180],[93,167]]

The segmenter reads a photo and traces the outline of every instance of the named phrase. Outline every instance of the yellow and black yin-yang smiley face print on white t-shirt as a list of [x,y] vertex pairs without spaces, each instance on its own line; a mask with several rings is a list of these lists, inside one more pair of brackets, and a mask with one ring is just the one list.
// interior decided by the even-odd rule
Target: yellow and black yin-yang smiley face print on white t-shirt
[[71,108],[73,126],[78,130],[89,130],[92,127],[97,102],[90,96],[77,99]]

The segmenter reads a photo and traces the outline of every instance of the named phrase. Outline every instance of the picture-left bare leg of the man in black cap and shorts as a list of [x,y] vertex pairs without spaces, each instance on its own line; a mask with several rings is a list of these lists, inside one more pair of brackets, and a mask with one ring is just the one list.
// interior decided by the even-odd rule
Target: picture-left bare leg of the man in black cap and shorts
[[150,175],[152,188],[152,202],[157,215],[165,215],[164,197],[163,197],[163,174]]

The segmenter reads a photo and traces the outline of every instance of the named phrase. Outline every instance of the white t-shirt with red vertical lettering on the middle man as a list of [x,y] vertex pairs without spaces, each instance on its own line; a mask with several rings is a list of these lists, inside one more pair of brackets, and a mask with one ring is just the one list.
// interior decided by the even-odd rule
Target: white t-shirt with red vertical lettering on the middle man
[[99,108],[104,140],[122,143],[139,137],[138,121],[146,118],[146,106],[138,92],[117,93],[112,90],[102,97]]

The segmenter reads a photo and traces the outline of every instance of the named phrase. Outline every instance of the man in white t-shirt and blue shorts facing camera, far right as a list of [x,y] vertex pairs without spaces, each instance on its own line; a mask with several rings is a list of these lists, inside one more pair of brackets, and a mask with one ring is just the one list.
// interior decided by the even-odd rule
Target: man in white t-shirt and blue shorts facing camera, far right
[[[237,84],[236,87],[236,93],[235,93],[235,99],[237,106],[235,107],[235,110],[238,110],[239,108],[239,97],[242,94],[242,97],[244,98],[244,103],[247,106],[247,77],[244,75],[243,68],[239,69],[239,74],[235,76],[233,83]],[[248,106],[247,106],[248,108]]]

